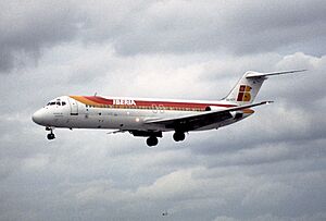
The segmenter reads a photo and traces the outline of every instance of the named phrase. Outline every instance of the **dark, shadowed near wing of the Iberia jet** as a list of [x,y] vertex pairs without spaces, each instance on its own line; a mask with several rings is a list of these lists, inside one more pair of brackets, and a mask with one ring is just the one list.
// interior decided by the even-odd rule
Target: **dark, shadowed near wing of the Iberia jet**
[[161,124],[166,128],[174,128],[176,131],[193,131],[203,126],[208,126],[214,123],[218,123],[225,121],[227,119],[233,118],[233,111],[239,111],[248,108],[253,108],[256,106],[267,105],[273,101],[264,101],[259,103],[252,103],[247,106],[239,106],[235,108],[227,108],[225,110],[220,111],[206,111],[199,114],[192,114],[181,118],[173,118],[173,119],[163,119],[163,120],[149,120],[146,124]]

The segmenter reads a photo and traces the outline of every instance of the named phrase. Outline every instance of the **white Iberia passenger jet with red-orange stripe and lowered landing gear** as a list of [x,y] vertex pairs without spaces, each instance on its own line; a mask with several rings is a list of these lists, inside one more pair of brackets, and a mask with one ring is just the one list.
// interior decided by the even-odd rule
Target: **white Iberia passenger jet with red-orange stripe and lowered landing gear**
[[147,145],[158,145],[163,132],[173,131],[173,139],[181,142],[185,133],[220,128],[253,114],[253,103],[263,82],[269,76],[303,72],[292,70],[272,73],[248,71],[230,93],[218,101],[145,99],[105,96],[61,96],[37,110],[32,119],[46,126],[48,139],[54,128],[101,128],[129,132],[147,137]]

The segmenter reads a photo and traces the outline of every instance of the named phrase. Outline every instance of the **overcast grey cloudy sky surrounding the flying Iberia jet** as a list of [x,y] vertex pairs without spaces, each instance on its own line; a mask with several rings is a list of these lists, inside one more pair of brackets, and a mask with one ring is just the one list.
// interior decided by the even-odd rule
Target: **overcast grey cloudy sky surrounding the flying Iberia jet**
[[[326,2],[0,1],[0,220],[325,220]],[[61,95],[275,100],[155,148],[30,115]],[[167,217],[162,212],[167,211]]]

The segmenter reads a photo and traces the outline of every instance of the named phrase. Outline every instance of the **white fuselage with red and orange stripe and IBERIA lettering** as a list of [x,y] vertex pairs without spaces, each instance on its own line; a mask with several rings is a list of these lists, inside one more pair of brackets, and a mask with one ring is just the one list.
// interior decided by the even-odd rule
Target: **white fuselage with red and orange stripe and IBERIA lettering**
[[[96,99],[97,97],[89,97]],[[150,100],[108,98],[110,103],[87,102],[83,96],[62,96],[34,113],[33,120],[47,127],[109,128],[121,131],[173,131],[160,124],[146,124],[150,120],[163,120],[198,114],[210,109],[226,109],[229,103],[187,100]],[[141,105],[145,103],[145,105]],[[140,103],[140,105],[138,105]],[[187,103],[187,105],[185,105]],[[250,115],[244,113],[241,119]],[[217,128],[241,119],[230,119],[197,131]]]

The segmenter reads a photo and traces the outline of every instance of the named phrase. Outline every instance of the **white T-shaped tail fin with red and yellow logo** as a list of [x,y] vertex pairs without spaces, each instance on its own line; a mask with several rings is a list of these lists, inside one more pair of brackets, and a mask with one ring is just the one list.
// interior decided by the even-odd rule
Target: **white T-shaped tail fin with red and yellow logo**
[[223,100],[235,102],[237,105],[252,103],[261,86],[268,76],[304,71],[306,70],[293,70],[272,73],[259,73],[252,71],[246,72],[240,81],[236,84],[236,86],[231,89],[231,91]]

